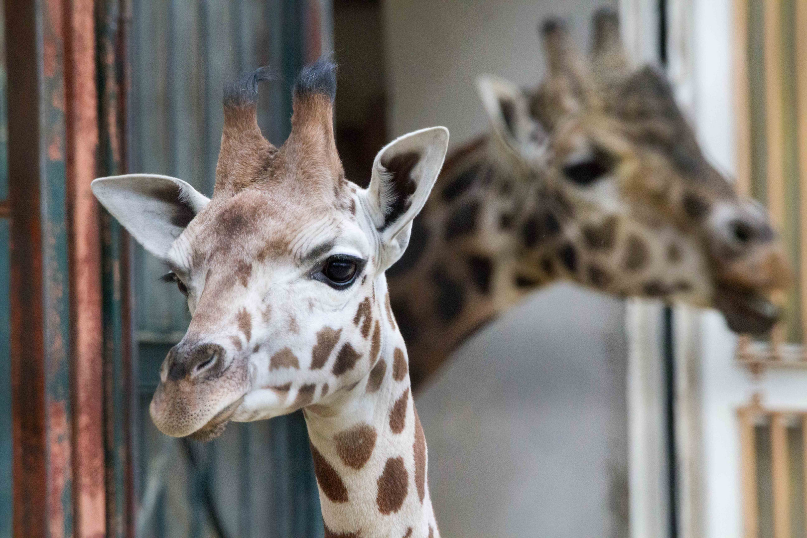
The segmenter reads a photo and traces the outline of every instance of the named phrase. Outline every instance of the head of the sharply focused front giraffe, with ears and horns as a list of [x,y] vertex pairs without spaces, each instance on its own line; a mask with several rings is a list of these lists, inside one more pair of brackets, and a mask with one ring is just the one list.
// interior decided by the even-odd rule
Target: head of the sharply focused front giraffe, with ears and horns
[[151,403],[169,436],[209,439],[230,420],[341,398],[370,373],[382,344],[374,320],[384,270],[406,248],[445,157],[445,127],[402,136],[378,153],[359,189],[334,143],[332,62],[300,73],[281,148],[257,126],[263,77],[259,69],[225,92],[210,200],[173,177],[93,183],[187,297],[190,327],[165,357]]

